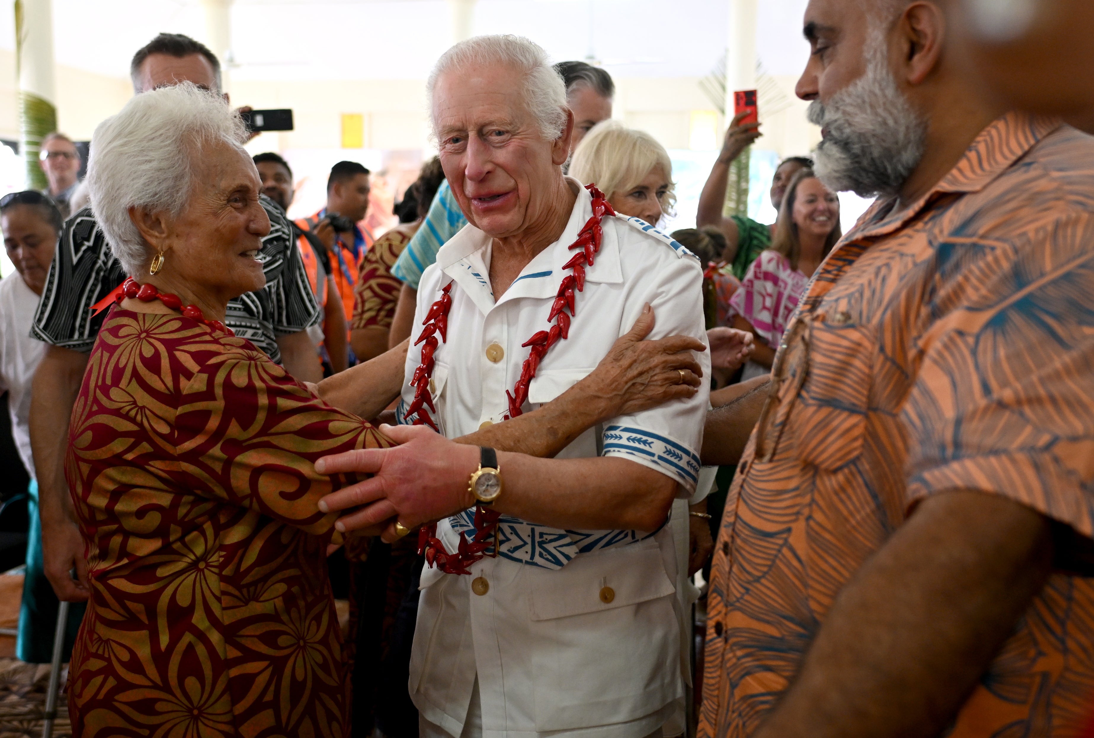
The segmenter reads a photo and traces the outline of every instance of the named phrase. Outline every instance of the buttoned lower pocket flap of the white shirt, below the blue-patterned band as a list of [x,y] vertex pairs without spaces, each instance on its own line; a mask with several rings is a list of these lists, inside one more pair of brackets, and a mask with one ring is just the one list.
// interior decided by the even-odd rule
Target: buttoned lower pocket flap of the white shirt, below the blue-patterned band
[[653,540],[581,554],[557,571],[529,567],[527,576],[532,620],[612,610],[676,593]]

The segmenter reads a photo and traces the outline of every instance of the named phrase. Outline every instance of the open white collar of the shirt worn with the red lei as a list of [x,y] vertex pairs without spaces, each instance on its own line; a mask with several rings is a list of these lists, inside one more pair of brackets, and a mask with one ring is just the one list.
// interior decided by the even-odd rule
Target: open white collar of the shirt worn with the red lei
[[[589,190],[573,177],[566,177],[566,181],[572,190],[577,190],[578,197],[562,235],[521,270],[520,276],[513,280],[513,284],[498,303],[493,300],[487,268],[492,238],[470,224],[437,253],[437,266],[446,274],[446,278],[442,278],[440,286],[455,281],[484,314],[511,300],[554,297],[562,280],[562,266],[575,254],[567,247],[578,239],[578,233],[593,214],[592,196]],[[604,225],[607,225],[609,220],[610,216],[605,218]],[[596,255],[595,263],[586,267],[585,281],[602,284],[622,282],[619,238],[615,229],[604,229],[601,250]]]

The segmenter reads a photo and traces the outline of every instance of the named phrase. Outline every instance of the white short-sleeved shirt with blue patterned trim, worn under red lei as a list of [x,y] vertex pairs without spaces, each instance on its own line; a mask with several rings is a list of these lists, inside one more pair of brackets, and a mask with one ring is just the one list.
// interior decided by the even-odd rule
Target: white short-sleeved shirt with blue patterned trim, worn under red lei
[[[577,202],[561,237],[538,254],[497,302],[488,281],[491,239],[468,225],[438,254],[418,291],[411,345],[422,320],[455,282],[447,340],[434,353],[432,413],[441,432],[458,437],[508,412],[505,390],[520,378],[528,349],[521,344],[550,327],[547,316],[568,246],[592,215],[575,180]],[[630,330],[647,303],[651,338],[689,335],[706,342],[702,270],[687,249],[638,219],[607,216],[595,263],[578,293],[569,339],[542,361],[528,388],[529,411],[582,379]],[[492,362],[487,348],[503,355]],[[497,356],[497,352],[491,352]],[[709,354],[698,356],[709,372]],[[420,362],[411,348],[399,422],[414,399],[409,379]],[[558,458],[617,456],[675,480],[679,496],[695,489],[709,393],[615,418],[579,436]],[[502,469],[504,476],[504,469]],[[439,537],[452,551],[473,511],[442,520]],[[638,531],[559,530],[502,516],[497,558],[472,566],[473,576],[422,574],[422,599],[411,661],[410,692],[423,716],[458,736],[476,675],[485,736],[641,738],[656,729],[682,693],[676,554],[670,527]],[[489,591],[474,595],[484,576]],[[612,586],[612,604],[598,593]],[[626,594],[622,594],[626,593]],[[559,629],[567,632],[560,640]],[[636,649],[636,643],[643,647]]]

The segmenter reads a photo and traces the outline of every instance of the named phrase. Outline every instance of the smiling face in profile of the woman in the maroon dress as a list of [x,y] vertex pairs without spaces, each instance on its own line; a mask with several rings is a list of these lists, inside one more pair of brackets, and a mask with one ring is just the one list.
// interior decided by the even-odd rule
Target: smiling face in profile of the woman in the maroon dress
[[151,254],[164,251],[163,270],[139,281],[194,302],[207,318],[221,319],[229,300],[265,286],[257,257],[270,221],[258,201],[258,172],[246,152],[218,141],[193,155],[186,209],[177,219],[160,215],[156,232],[142,231]]

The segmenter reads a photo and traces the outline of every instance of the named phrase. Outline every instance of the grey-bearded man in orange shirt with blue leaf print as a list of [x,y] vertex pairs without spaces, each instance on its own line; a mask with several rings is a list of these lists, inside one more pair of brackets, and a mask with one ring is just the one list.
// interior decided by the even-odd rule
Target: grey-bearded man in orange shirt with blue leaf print
[[699,736],[1063,736],[1094,698],[1094,139],[986,96],[952,11],[806,10],[817,174],[880,197],[726,503]]

